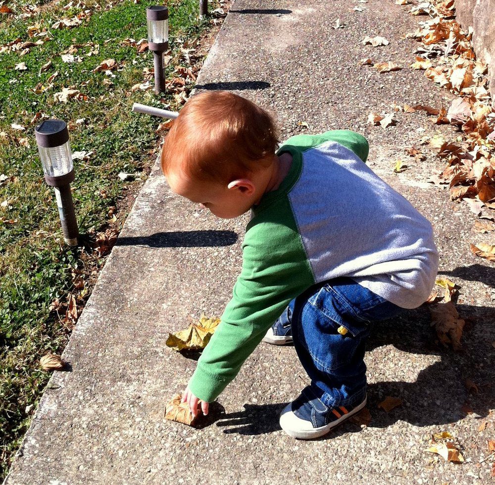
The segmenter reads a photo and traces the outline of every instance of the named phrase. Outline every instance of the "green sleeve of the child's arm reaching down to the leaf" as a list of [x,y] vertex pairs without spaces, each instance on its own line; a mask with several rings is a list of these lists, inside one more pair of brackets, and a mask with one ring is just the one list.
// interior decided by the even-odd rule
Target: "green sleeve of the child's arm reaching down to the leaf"
[[204,401],[223,391],[289,302],[314,284],[288,198],[275,206],[247,226],[232,300],[189,383]]

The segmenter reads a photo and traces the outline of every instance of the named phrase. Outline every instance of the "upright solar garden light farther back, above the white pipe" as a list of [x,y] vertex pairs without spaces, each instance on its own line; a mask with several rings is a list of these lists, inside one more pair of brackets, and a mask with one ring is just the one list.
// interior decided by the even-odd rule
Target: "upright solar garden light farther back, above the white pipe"
[[148,49],[153,51],[155,71],[155,93],[165,92],[163,53],[168,50],[168,8],[152,5],[146,9],[148,21]]

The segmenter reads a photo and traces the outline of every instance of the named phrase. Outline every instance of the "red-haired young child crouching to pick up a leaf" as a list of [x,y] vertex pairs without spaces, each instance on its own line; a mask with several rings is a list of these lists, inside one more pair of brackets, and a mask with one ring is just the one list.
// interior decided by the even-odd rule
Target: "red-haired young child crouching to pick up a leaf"
[[275,153],[277,134],[262,108],[212,91],[194,96],[166,137],[172,191],[218,217],[251,210],[232,300],[183,402],[207,414],[261,340],[293,340],[310,385],[280,425],[309,439],[364,407],[370,322],[421,305],[438,254],[428,220],[365,164],[361,135],[297,135]]

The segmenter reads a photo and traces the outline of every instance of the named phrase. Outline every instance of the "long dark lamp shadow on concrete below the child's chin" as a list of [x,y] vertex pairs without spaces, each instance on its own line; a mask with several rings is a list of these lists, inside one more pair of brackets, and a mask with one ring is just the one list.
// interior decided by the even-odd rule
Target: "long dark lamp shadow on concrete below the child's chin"
[[234,231],[169,231],[149,236],[119,237],[115,246],[145,246],[149,248],[204,248],[231,246],[237,241]]

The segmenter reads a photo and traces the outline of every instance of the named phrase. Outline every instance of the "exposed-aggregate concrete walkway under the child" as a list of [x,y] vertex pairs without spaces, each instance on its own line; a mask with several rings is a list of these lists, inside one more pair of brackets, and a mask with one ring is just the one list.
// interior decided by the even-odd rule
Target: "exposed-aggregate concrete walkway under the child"
[[[418,22],[409,8],[394,0],[236,0],[198,89],[231,89],[271,109],[283,139],[337,128],[363,133],[368,164],[434,225],[440,274],[460,286],[463,350],[435,342],[426,306],[377,325],[366,354],[371,423],[346,423],[315,441],[294,440],[278,425],[307,382],[290,346],[259,345],[200,429],[165,421],[165,402],[196,365],[165,340],[189,315],[221,315],[248,217],[198,210],[170,192],[155,165],[64,352],[70,371],[51,378],[7,485],[493,483],[495,275],[469,249],[489,236],[473,232],[466,204],[426,182],[443,162],[419,144],[454,137],[454,128],[423,113],[397,113],[397,125],[385,130],[366,123],[369,112],[391,112],[394,102],[451,99],[407,68],[416,43],[403,37]],[[337,18],[343,28],[334,28]],[[361,44],[376,35],[390,45]],[[379,74],[359,65],[363,57],[405,68]],[[412,145],[425,161],[408,160]],[[410,168],[393,173],[397,158]],[[477,385],[471,393],[467,379]],[[386,413],[377,405],[389,395],[404,402]],[[424,451],[440,431],[458,439],[464,463]]]

